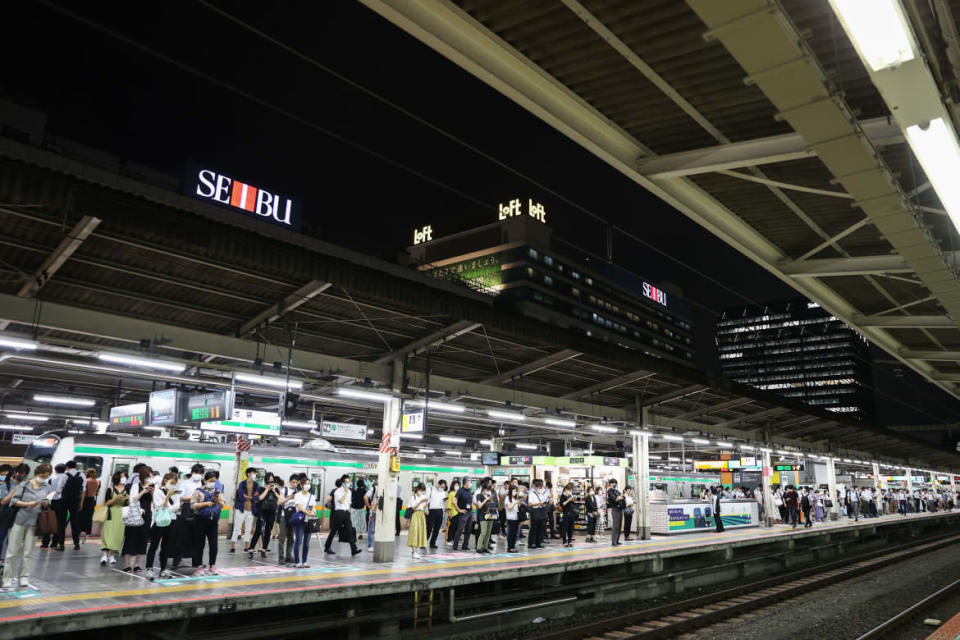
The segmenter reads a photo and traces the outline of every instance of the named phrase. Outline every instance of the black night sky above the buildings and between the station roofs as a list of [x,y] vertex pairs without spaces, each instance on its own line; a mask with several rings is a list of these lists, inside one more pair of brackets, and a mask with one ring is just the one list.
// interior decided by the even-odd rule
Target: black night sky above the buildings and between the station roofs
[[[604,253],[605,224],[595,217],[606,220],[647,243],[617,236],[618,264],[675,283],[700,305],[701,366],[715,368],[707,310],[796,295],[354,0],[217,6],[516,173],[197,2],[152,3],[149,12],[135,2],[3,3],[0,97],[45,112],[48,134],[177,175],[193,160],[297,196],[312,233],[389,260],[411,244],[414,227],[430,224],[434,237],[476,227],[514,197],[543,203],[555,235],[597,254]],[[907,382],[930,387],[912,373]]]

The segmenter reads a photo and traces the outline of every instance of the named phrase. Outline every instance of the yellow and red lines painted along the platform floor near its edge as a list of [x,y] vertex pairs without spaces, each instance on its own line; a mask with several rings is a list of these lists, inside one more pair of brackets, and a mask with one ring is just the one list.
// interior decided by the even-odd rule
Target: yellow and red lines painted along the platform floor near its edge
[[[899,520],[899,519],[898,519]],[[883,522],[883,520],[879,520]],[[782,527],[782,525],[777,525],[777,529],[772,530],[761,530],[757,531],[756,529],[744,529],[741,532],[731,532],[723,537],[717,537],[716,543],[713,541],[706,542],[708,545],[713,544],[723,544],[725,542],[737,541],[737,540],[750,540],[750,539],[762,539],[762,538],[773,538],[786,536],[791,533],[795,533],[792,528]],[[855,525],[853,522],[847,522],[843,520],[838,520],[837,522],[828,522],[819,525],[820,528],[834,528],[834,527],[844,527],[844,526],[863,526]],[[782,527],[782,528],[780,528]],[[814,528],[816,529],[816,527]],[[708,536],[709,538],[709,536]],[[682,543],[682,544],[681,544]],[[643,545],[630,545],[624,549],[616,549],[610,546],[600,546],[594,548],[585,548],[583,551],[588,553],[603,553],[602,555],[585,557],[584,560],[592,560],[599,558],[615,558],[621,556],[632,556],[632,555],[642,555],[636,553],[637,550],[649,550],[657,551],[664,548],[686,548],[686,547],[696,547],[702,546],[705,543],[704,538],[692,539],[689,536],[678,535],[665,540],[657,540],[653,542],[644,541]],[[476,560],[469,560],[460,563],[452,563],[449,565],[443,565],[443,569],[454,569],[454,568],[463,568],[463,567],[484,567],[487,571],[495,571],[499,569],[510,569],[510,568],[528,568],[529,565],[520,564],[516,567],[500,567],[496,565],[516,562],[518,560],[536,560],[537,566],[552,566],[556,564],[569,564],[571,559],[569,558],[569,549],[558,550],[554,553],[545,553],[537,555],[521,555],[517,557],[516,554],[508,554],[509,557],[506,558],[478,558]],[[561,558],[558,560],[553,560],[550,562],[542,562],[548,558]],[[346,567],[344,567],[346,568]],[[117,598],[124,596],[151,596],[151,595],[162,595],[164,593],[180,593],[184,591],[209,591],[212,589],[219,588],[221,586],[229,587],[245,587],[245,586],[256,586],[256,585],[275,585],[275,584],[284,584],[289,582],[310,582],[313,580],[319,580],[321,578],[339,578],[339,577],[357,577],[360,576],[387,576],[386,578],[381,577],[379,579],[373,580],[353,580],[347,582],[335,582],[321,585],[300,585],[296,587],[287,587],[287,588],[278,588],[278,589],[269,589],[269,590],[258,590],[258,591],[246,591],[246,592],[234,592],[234,593],[219,593],[215,596],[210,594],[198,595],[190,598],[178,598],[178,599],[166,599],[166,600],[155,600],[148,602],[133,602],[133,603],[123,603],[123,604],[111,604],[111,608],[127,608],[127,607],[143,607],[150,605],[168,605],[176,604],[189,601],[197,600],[210,600],[214,597],[216,598],[234,598],[234,597],[244,597],[244,596],[255,596],[255,595],[266,595],[270,593],[281,593],[287,591],[300,591],[303,589],[334,589],[334,588],[343,588],[351,586],[362,586],[366,584],[382,584],[384,582],[400,582],[409,580],[411,578],[409,572],[414,571],[435,571],[436,564],[434,563],[424,563],[418,565],[409,565],[403,567],[403,574],[398,573],[397,567],[385,567],[382,569],[360,569],[359,567],[353,570],[342,571],[340,568],[331,568],[327,570],[317,570],[317,569],[301,569],[296,572],[296,575],[286,575],[286,576],[276,576],[276,577],[261,577],[257,579],[234,579],[229,582],[223,582],[222,584],[211,584],[213,582],[220,583],[218,577],[204,577],[202,579],[194,579],[195,581],[192,584],[183,584],[184,581],[177,581],[180,584],[171,584],[164,586],[157,586],[149,589],[122,589],[114,591],[88,591],[82,593],[68,593],[68,594],[58,594],[53,596],[40,596],[30,599],[30,604],[53,604],[53,603],[62,603],[62,602],[75,602],[82,600],[99,600],[106,598]],[[339,572],[342,571],[342,572]],[[390,577],[389,574],[397,574],[393,577]],[[463,575],[461,571],[444,571],[440,573],[429,573],[428,575],[422,576],[423,578],[440,578],[447,577],[451,575]],[[421,577],[421,576],[418,576]],[[7,609],[18,606],[18,602],[10,600],[0,600],[0,609]],[[13,615],[9,617],[0,618],[0,622],[7,622],[13,620],[23,620],[30,618],[39,618],[39,617],[49,617],[49,616],[58,616],[58,615],[70,615],[76,614],[83,611],[102,611],[102,607],[88,607],[84,609],[72,609],[69,611],[48,611],[48,612],[35,612],[27,613],[22,615]]]

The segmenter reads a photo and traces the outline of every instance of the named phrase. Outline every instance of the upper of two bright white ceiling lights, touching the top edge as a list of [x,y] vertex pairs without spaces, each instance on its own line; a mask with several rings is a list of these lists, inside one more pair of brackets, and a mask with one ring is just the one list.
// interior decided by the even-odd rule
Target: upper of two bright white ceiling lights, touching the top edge
[[830,4],[860,57],[874,71],[916,57],[899,0],[830,0]]

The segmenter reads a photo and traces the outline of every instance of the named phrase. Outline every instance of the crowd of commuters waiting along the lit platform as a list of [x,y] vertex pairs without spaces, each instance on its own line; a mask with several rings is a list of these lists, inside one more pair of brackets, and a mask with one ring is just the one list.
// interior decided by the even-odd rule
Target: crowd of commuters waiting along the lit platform
[[[29,477],[28,477],[29,476]],[[286,480],[266,472],[258,480],[257,469],[247,469],[232,496],[232,534],[229,553],[240,552],[248,559],[268,557],[276,540],[276,562],[307,568],[310,539],[320,530],[318,510],[330,512],[329,533],[324,552],[335,554],[335,540],[350,546],[352,554],[362,551],[358,540],[366,536],[366,548],[373,549],[377,513],[383,508],[383,491],[363,480],[352,486],[351,477],[340,477],[335,487],[317,500],[317,491],[306,474]],[[39,538],[40,548],[65,550],[69,524],[75,550],[100,523],[100,564],[122,571],[144,574],[147,579],[169,578],[181,565],[190,563],[193,574],[217,573],[219,528],[227,504],[219,473],[201,464],[189,473],[171,467],[165,471],[138,464],[126,472],[113,473],[97,504],[100,480],[94,469],[80,472],[74,461],[57,465],[39,464],[32,475],[27,465],[0,465],[0,571],[2,588],[28,586],[31,557]],[[397,490],[394,535],[401,531],[401,517],[409,520],[407,545],[414,559],[440,544],[454,551],[490,553],[499,538],[506,551],[517,553],[525,540],[528,549],[539,549],[548,540],[564,547],[574,545],[574,531],[581,523],[584,541],[595,543],[598,532],[609,530],[610,543],[617,546],[631,539],[636,497],[631,487],[621,491],[616,480],[581,488],[572,483],[554,488],[549,481],[532,483],[517,479],[500,482],[487,477],[478,482],[464,477],[449,486],[439,480],[433,486],[418,482],[404,505],[402,489]],[[758,487],[705,488],[701,499],[710,501],[714,524],[723,531],[722,499],[755,499],[763,509]],[[793,485],[775,485],[772,492],[778,521],[794,528],[823,522],[834,507],[853,520],[860,517],[953,509],[954,495],[946,490],[885,489],[849,487],[830,496],[828,490]],[[56,525],[38,531],[42,511],[56,516]],[[439,543],[438,543],[439,540]],[[472,544],[471,544],[472,540]],[[204,555],[206,552],[206,562]],[[120,570],[118,568],[118,570]]]

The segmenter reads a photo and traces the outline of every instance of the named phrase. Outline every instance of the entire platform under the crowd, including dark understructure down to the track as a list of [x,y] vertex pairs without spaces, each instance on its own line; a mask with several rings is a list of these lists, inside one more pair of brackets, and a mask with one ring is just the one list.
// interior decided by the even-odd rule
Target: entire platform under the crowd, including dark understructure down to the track
[[[449,616],[447,609],[442,609],[444,622],[456,619],[448,597],[462,594],[461,607],[471,597],[478,606],[494,603],[491,584],[500,583],[494,592],[509,593],[517,580],[524,585],[524,597],[573,592],[570,597],[576,599],[586,591],[592,602],[653,597],[665,589],[682,590],[684,584],[687,588],[708,584],[710,576],[719,582],[767,570],[782,571],[794,561],[836,557],[853,553],[855,548],[919,540],[955,529],[957,523],[960,511],[882,516],[858,523],[841,519],[806,529],[777,525],[720,534],[707,531],[634,540],[618,547],[610,546],[606,539],[595,544],[578,542],[571,549],[550,545],[516,554],[505,552],[501,538],[497,551],[490,555],[441,547],[420,560],[410,558],[406,538],[401,536],[396,560],[389,564],[374,563],[373,554],[366,551],[351,557],[346,545],[336,555],[324,554],[315,538],[309,569],[273,564],[275,556],[248,560],[239,551],[231,555],[229,542],[221,540],[218,575],[191,577],[191,569],[181,569],[173,579],[153,582],[142,574],[124,573],[122,565],[101,567],[97,541],[90,540],[79,551],[72,547],[65,552],[35,550],[30,577],[35,588],[0,595],[0,637],[51,637],[177,621],[183,624],[182,633],[174,634],[177,637],[191,637],[187,621],[193,628],[207,629],[203,637],[214,637],[204,618],[215,618],[219,621],[216,628],[223,629],[239,623],[237,617],[244,614],[247,623],[268,619],[267,610],[274,609],[299,608],[301,614],[309,610],[321,615],[331,603],[341,613],[353,612],[357,624],[368,620],[363,612],[379,609],[385,620],[380,621],[381,626],[388,625],[379,635],[390,637],[390,625],[400,624],[390,622],[391,610],[416,615],[419,612],[413,609],[422,605],[421,598],[429,597],[434,604],[438,591],[430,615],[437,617],[434,609],[449,607]],[[588,576],[603,580],[588,584],[584,581]],[[570,587],[572,579],[580,586]],[[393,609],[388,606],[391,602]],[[398,603],[402,603],[399,609]],[[349,617],[343,616],[341,626]],[[368,621],[375,622],[376,617],[371,615]],[[228,618],[234,618],[233,622]],[[246,626],[248,631],[252,628]],[[357,634],[345,637],[351,635]],[[236,640],[244,635],[231,632],[224,637]]]

